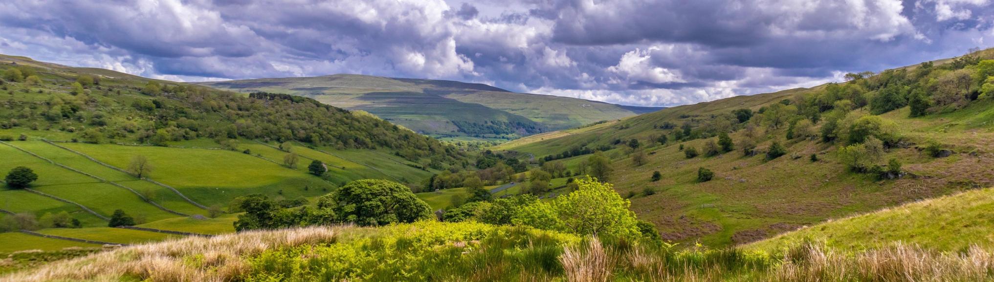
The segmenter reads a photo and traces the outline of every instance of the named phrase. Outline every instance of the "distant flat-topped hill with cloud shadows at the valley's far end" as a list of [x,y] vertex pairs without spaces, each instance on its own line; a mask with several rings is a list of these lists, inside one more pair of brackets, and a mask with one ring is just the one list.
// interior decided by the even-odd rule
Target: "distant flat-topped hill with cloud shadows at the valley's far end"
[[198,84],[312,97],[329,105],[368,111],[417,132],[456,139],[515,139],[659,109],[516,93],[480,83],[359,74]]

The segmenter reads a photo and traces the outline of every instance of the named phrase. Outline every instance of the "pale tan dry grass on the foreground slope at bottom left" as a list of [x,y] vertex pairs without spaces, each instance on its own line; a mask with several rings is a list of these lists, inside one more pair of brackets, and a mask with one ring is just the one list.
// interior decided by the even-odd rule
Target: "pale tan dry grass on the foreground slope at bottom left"
[[248,231],[216,237],[186,237],[122,247],[21,271],[0,281],[232,281],[248,271],[246,258],[264,250],[335,241],[349,226]]

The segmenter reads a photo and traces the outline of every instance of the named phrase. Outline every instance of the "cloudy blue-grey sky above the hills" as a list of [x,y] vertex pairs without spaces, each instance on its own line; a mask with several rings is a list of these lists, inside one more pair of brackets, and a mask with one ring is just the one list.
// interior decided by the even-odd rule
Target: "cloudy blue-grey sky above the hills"
[[994,47],[994,0],[4,0],[0,54],[177,81],[361,73],[672,106]]

